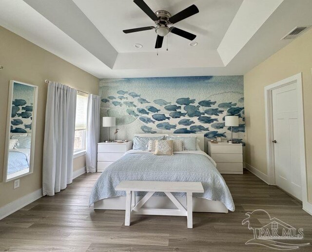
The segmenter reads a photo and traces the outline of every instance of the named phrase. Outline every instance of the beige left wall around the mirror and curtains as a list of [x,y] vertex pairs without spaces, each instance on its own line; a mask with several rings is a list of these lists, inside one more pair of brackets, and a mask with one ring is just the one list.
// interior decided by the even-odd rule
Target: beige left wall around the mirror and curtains
[[[47,84],[44,79],[66,83],[78,90],[98,94],[98,78],[0,26],[0,181],[3,174],[6,109],[9,80],[37,85],[38,111],[34,173],[20,178],[20,187],[13,190],[13,181],[0,182],[0,207],[42,187],[42,147],[44,135]],[[74,161],[75,169],[85,166],[84,157]],[[74,169],[74,170],[75,170]]]

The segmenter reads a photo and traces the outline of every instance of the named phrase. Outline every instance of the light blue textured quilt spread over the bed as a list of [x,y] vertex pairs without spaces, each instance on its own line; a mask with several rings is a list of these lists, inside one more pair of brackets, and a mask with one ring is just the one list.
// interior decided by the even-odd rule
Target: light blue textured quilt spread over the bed
[[[115,191],[115,187],[122,180],[199,181],[203,185],[204,193],[197,193],[194,196],[221,201],[228,210],[235,210],[229,188],[204,152],[185,152],[170,156],[129,152],[107,167],[100,175],[92,189],[89,205],[100,199],[125,196],[124,191]],[[144,192],[137,193],[137,195],[144,194]],[[183,193],[174,195],[185,196]]]

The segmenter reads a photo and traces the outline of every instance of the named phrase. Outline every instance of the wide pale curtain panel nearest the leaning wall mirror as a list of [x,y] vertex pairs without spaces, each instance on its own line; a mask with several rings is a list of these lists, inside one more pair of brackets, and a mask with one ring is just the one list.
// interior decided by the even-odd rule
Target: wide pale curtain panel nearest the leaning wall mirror
[[49,82],[43,143],[43,195],[53,196],[73,182],[77,90]]

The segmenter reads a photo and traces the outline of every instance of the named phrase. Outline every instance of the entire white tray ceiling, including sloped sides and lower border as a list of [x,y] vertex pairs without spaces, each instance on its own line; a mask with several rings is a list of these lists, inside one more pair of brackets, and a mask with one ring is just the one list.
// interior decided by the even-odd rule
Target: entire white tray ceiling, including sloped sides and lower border
[[[1,0],[0,25],[98,78],[243,75],[292,40],[295,26],[312,24],[312,0],[145,0],[172,15],[195,4],[199,13],[174,26],[156,55],[153,25],[132,0]],[[137,49],[134,43],[141,43]]]

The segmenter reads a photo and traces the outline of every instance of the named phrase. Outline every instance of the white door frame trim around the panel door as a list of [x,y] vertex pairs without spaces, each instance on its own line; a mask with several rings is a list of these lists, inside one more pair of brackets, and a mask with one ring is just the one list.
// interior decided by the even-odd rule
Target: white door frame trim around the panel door
[[[302,96],[302,73],[289,78],[282,79],[271,85],[264,87],[265,101],[265,120],[266,120],[266,145],[267,145],[267,172],[270,185],[275,185],[275,165],[274,165],[274,147],[273,147],[273,97],[274,89],[297,83],[297,101],[298,101],[298,122],[299,122],[299,148],[300,148],[300,172],[303,208],[308,206],[307,193],[307,170],[306,170],[306,152],[304,136],[304,117],[303,117],[303,96]],[[306,208],[307,209],[307,208]]]

